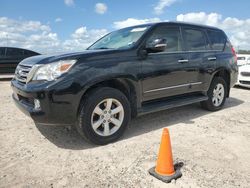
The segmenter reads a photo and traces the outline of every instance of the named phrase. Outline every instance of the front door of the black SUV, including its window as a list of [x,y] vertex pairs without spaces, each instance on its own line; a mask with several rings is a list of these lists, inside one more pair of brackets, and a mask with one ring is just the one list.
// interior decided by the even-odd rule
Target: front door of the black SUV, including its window
[[184,51],[180,27],[158,26],[146,43],[162,38],[167,41],[165,51],[149,52],[142,63],[144,101],[189,93],[190,83],[197,81],[197,70]]

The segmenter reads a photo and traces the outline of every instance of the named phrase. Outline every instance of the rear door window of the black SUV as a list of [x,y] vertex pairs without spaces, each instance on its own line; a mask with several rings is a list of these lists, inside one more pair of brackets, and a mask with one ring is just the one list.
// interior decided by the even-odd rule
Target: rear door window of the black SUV
[[206,49],[207,44],[203,31],[197,29],[184,28],[183,34],[188,50],[199,51]]

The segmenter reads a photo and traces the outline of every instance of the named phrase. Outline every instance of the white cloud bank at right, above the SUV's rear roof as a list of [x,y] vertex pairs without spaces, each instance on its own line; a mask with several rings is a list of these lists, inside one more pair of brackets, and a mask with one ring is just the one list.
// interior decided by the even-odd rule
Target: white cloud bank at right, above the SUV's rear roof
[[218,13],[207,14],[205,12],[192,12],[180,14],[177,21],[194,22],[199,24],[216,26],[223,29],[232,44],[240,49],[250,49],[250,19],[238,19],[227,17],[223,19]]

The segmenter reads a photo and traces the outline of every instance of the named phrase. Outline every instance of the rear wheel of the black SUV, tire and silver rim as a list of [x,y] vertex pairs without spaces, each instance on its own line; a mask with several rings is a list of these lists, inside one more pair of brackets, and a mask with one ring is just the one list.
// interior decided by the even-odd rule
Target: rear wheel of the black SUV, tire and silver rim
[[225,103],[227,92],[228,89],[225,80],[222,77],[215,77],[207,92],[208,100],[201,102],[201,106],[209,111],[220,110]]

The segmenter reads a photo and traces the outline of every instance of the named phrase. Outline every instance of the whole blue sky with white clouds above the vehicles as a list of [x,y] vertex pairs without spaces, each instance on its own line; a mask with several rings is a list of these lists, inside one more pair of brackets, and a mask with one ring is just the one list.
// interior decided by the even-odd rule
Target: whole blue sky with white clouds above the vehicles
[[185,21],[223,29],[250,50],[249,0],[0,0],[0,46],[82,51],[116,29]]

